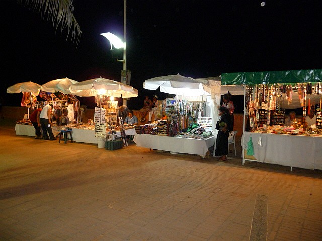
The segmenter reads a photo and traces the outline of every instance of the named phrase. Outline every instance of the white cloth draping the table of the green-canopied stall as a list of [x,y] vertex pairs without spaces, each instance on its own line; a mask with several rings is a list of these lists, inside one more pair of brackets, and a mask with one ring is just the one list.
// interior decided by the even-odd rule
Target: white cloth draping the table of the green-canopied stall
[[290,166],[291,170],[292,167],[322,169],[322,137],[244,132],[241,139],[244,150],[250,137],[256,160],[243,155],[243,165],[248,160]]

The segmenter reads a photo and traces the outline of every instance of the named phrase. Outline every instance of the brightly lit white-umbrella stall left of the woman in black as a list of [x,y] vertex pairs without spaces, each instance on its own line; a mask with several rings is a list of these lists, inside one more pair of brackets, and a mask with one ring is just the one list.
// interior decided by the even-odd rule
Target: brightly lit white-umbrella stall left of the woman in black
[[[179,74],[145,80],[143,88],[160,88],[160,91],[176,94],[176,97],[165,99],[162,103],[162,112],[166,120],[136,127],[136,145],[205,157],[209,148],[214,145],[215,136],[212,134],[214,101],[209,101],[211,95],[203,89],[203,82],[207,80],[196,81]],[[220,88],[220,83],[217,87]],[[215,118],[217,119],[217,116]],[[192,135],[184,135],[181,132],[196,123],[200,124],[200,132]]]

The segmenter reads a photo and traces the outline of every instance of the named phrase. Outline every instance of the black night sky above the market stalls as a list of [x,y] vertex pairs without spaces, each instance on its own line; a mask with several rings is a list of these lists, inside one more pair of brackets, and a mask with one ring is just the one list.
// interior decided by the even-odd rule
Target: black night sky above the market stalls
[[[156,76],[322,68],[322,2],[267,0],[263,7],[261,2],[127,0],[127,69],[139,90],[127,101],[129,108],[139,109],[145,95],[166,97],[142,88]],[[123,0],[74,0],[73,5],[82,30],[78,46],[39,13],[15,0],[2,2],[3,105],[20,106],[22,94],[6,93],[19,82],[100,76],[120,81],[123,64],[111,57],[100,33],[123,36]],[[93,102],[94,97],[81,98],[88,107],[95,107]]]

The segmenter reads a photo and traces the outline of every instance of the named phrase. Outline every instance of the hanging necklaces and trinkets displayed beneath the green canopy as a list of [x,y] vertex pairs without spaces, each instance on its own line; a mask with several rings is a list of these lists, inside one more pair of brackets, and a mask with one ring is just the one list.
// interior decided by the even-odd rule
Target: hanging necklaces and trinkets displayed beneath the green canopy
[[[316,125],[308,127],[305,117],[311,111],[315,112],[315,104],[311,100],[312,94],[320,94],[320,84],[297,83],[259,84],[248,85],[246,98],[246,111],[252,132],[281,133],[296,135],[320,135],[322,128],[321,98],[316,108]],[[292,99],[299,98],[302,106],[302,117],[294,122],[296,125],[285,127],[285,109],[283,98],[290,104]],[[314,98],[316,100],[316,98]],[[315,128],[316,126],[316,128]]]

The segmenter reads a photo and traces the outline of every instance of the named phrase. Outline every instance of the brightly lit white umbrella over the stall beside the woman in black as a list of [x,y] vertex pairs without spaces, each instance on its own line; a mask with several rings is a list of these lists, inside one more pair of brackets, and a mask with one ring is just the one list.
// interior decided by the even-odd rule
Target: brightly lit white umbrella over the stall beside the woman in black
[[143,88],[156,90],[168,94],[183,96],[201,96],[205,94],[202,84],[190,77],[185,77],[179,73],[176,75],[167,75],[147,79],[143,82]]

